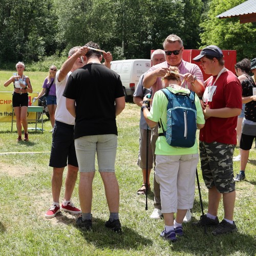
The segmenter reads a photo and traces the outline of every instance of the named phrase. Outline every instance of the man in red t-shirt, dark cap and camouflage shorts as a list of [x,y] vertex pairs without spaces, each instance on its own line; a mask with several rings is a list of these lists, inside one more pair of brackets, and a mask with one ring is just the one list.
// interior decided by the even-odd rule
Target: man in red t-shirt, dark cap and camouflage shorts
[[206,74],[202,108],[205,126],[200,130],[199,149],[203,179],[208,188],[208,211],[197,226],[217,226],[218,207],[223,197],[224,219],[212,231],[214,235],[237,231],[233,221],[236,200],[233,181],[233,152],[237,143],[237,117],[242,109],[242,88],[238,78],[224,67],[223,53],[217,46],[207,46],[194,58]]

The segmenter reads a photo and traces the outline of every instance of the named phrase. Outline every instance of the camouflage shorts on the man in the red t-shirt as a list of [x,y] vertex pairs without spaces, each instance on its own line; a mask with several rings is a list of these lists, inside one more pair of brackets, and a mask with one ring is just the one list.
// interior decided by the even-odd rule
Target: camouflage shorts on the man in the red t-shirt
[[219,193],[235,190],[233,180],[234,145],[199,142],[201,169],[207,188],[216,186]]

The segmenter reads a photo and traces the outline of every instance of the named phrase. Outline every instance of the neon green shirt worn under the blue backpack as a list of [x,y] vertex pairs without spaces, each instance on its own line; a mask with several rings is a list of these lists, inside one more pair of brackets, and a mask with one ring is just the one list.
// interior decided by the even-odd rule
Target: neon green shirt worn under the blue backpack
[[[188,89],[180,87],[172,88],[167,87],[168,90],[170,90],[173,93],[178,92],[184,92],[189,93],[190,91]],[[154,95],[152,107],[150,110],[150,113],[147,114],[147,118],[154,121],[159,122],[159,120],[162,120],[164,131],[166,131],[166,122],[167,122],[167,104],[168,100],[164,93],[162,91],[157,91]],[[204,124],[204,115],[201,108],[200,100],[198,96],[195,94],[195,104],[197,108],[197,123]],[[159,128],[158,133],[162,133],[162,127]],[[164,136],[159,136],[156,142],[156,155],[165,155],[165,156],[176,156],[176,155],[188,155],[188,154],[197,154],[198,153],[198,143],[197,140],[195,140],[195,144],[192,147],[174,147],[170,146],[167,142]]]

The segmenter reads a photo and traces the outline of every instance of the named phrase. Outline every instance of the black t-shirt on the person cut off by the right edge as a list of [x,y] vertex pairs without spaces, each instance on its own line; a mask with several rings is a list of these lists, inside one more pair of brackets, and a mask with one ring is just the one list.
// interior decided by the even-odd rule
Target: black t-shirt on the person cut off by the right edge
[[[243,80],[242,88],[243,88],[242,95],[244,97],[252,96],[253,95],[252,88],[256,88],[253,78],[249,77],[248,79]],[[252,100],[245,104],[244,117],[247,120],[256,122],[256,101],[255,100]]]

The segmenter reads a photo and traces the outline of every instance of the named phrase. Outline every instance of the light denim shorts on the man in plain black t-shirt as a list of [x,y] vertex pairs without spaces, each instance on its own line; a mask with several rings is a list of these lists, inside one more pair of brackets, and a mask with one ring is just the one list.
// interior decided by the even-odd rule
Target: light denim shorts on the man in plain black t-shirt
[[79,172],[95,172],[97,152],[99,172],[115,172],[117,135],[91,135],[75,139]]

